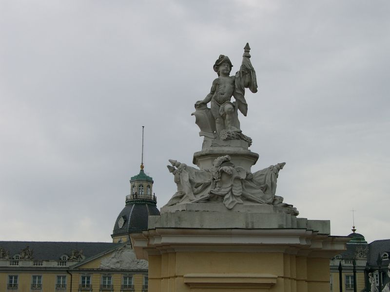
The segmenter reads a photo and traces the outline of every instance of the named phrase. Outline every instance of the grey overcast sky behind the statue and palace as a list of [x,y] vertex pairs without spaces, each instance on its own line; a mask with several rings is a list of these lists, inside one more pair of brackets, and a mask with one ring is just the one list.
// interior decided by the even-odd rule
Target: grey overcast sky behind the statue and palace
[[249,42],[253,170],[332,235],[390,238],[390,2],[0,1],[0,240],[111,241],[139,171],[192,164],[213,64]]

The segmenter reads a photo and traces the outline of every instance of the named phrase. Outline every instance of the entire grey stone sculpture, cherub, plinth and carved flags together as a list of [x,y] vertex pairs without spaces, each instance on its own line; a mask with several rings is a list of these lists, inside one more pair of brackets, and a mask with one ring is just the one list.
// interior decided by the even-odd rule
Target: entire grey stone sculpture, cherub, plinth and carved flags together
[[244,116],[248,112],[245,88],[257,92],[250,50],[247,43],[241,67],[234,76],[230,76],[233,65],[228,56],[219,55],[215,61],[213,69],[218,77],[210,93],[195,103],[192,114],[200,128],[199,135],[204,137],[202,150],[195,152],[193,159],[199,169],[169,160],[168,169],[174,175],[177,191],[166,206],[223,202],[227,209],[233,209],[236,204],[269,204],[298,214],[275,195],[279,171],[286,163],[251,172],[259,156],[248,149],[252,139],[243,134],[238,119],[238,111]]

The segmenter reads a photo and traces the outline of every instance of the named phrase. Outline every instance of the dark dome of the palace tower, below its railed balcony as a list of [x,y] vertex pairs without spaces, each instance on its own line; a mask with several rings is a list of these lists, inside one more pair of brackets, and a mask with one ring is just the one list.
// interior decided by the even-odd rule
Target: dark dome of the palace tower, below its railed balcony
[[148,216],[154,215],[160,215],[156,202],[149,200],[127,201],[126,206],[115,221],[113,236],[141,232],[148,229]]

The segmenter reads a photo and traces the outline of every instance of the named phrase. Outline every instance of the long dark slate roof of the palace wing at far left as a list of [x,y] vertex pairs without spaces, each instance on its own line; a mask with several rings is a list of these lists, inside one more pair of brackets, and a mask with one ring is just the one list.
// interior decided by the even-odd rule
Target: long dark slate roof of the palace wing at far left
[[82,255],[88,258],[119,245],[111,242],[0,241],[0,247],[9,251],[10,258],[29,246],[37,260],[58,260],[62,255],[70,256],[73,250],[82,250]]

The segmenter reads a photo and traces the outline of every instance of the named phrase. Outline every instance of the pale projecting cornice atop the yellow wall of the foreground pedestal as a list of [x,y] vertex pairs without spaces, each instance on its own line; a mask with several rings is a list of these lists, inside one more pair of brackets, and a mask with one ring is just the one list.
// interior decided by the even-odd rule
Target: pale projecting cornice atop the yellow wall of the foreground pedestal
[[184,251],[283,252],[330,258],[345,250],[348,237],[305,229],[156,228],[131,235],[137,258]]

